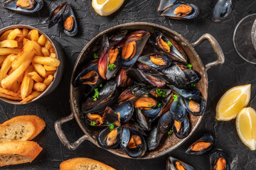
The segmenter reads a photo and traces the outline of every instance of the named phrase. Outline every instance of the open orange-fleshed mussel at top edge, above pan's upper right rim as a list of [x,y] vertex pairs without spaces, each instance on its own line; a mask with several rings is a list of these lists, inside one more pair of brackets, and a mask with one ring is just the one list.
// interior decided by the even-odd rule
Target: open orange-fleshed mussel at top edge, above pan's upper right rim
[[177,2],[177,0],[160,0],[158,11],[164,11],[161,16],[173,19],[193,19],[198,17],[199,8],[193,4]]

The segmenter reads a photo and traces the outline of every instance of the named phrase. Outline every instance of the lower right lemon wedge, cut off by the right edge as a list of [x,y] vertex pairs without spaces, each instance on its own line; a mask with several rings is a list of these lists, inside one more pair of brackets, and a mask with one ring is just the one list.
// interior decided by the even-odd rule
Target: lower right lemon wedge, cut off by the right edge
[[253,108],[243,108],[235,122],[242,142],[251,150],[256,149],[256,112]]

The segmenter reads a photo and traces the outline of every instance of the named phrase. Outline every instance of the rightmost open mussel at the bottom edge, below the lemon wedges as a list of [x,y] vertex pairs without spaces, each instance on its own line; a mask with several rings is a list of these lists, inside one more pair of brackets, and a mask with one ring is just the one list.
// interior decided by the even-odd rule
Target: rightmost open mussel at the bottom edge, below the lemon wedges
[[230,170],[230,162],[228,160],[228,155],[225,153],[223,149],[214,148],[210,152],[210,169]]

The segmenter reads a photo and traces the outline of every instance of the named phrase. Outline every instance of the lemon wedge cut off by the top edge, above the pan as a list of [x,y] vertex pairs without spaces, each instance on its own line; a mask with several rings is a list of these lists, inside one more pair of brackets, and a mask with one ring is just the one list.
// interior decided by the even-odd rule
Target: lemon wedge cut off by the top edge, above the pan
[[124,0],[92,0],[92,7],[100,16],[109,16],[119,9]]

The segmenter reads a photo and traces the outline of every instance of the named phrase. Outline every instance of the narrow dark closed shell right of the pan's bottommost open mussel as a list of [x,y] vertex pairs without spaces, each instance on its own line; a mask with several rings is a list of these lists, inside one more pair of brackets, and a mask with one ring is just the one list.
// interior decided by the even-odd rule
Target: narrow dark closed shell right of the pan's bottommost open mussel
[[149,135],[146,137],[146,145],[149,151],[154,150],[159,146],[163,135],[164,134],[159,132],[157,125],[150,130]]

